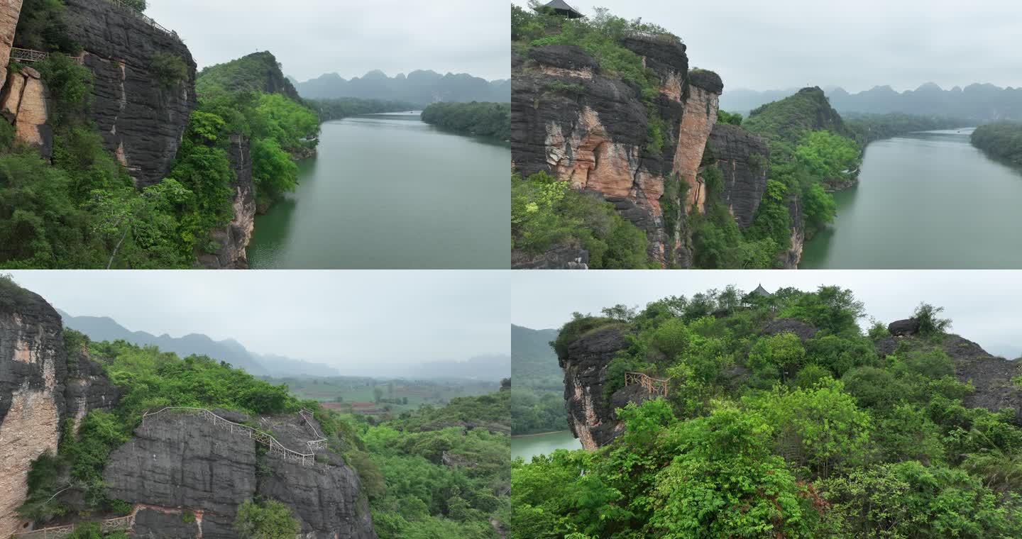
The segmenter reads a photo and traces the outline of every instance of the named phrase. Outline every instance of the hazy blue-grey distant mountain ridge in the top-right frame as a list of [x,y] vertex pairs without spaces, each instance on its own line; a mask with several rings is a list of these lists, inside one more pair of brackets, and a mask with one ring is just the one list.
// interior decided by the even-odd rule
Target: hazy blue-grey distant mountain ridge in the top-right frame
[[[797,90],[732,90],[721,96],[721,109],[748,113],[759,105],[777,101]],[[956,86],[944,90],[934,83],[926,83],[916,90],[897,92],[890,86],[875,86],[870,90],[848,93],[840,87],[826,87],[824,91],[840,113],[858,112],[884,114],[939,115],[972,118],[979,121],[996,119],[1022,119],[1022,88],[1001,88],[991,84],[972,84],[965,88]]]

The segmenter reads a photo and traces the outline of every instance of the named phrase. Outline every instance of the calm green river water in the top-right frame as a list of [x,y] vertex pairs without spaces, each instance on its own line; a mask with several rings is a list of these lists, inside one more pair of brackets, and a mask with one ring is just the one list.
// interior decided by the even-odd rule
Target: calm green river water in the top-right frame
[[806,243],[803,270],[1022,268],[1022,170],[969,143],[971,129],[866,149],[857,187]]

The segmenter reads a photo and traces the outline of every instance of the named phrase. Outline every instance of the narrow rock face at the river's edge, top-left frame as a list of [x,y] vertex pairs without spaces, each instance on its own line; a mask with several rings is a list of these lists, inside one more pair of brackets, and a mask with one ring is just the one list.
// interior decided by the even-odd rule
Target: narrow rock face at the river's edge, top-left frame
[[235,180],[234,218],[226,227],[216,229],[212,237],[220,249],[216,253],[201,253],[199,265],[208,270],[246,270],[248,259],[245,250],[256,228],[256,197],[252,195],[252,161],[250,141],[240,135],[231,137],[231,168]]

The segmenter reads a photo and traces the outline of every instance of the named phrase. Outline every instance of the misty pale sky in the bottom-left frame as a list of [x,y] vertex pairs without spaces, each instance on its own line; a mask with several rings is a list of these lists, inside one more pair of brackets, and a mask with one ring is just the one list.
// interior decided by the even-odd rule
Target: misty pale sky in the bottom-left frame
[[[74,316],[343,366],[510,353],[504,272],[10,272]],[[343,372],[343,371],[341,371]]]

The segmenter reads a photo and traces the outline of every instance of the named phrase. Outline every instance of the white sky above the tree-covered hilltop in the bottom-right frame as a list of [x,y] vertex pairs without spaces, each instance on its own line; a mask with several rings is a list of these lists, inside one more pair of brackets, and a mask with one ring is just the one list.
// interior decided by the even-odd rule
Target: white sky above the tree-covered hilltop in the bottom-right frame
[[866,303],[861,326],[870,316],[884,324],[907,318],[925,301],[944,307],[942,317],[953,321],[953,333],[995,355],[1022,355],[1020,272],[519,272],[514,277],[511,321],[536,330],[560,328],[573,311],[598,313],[617,303],[645,306],[729,284],[751,291],[762,283],[770,292],[786,286],[811,291],[837,285],[851,289]]

